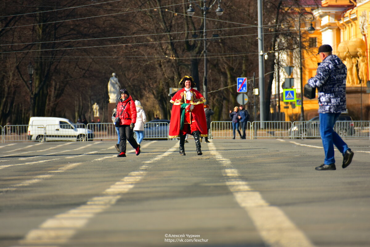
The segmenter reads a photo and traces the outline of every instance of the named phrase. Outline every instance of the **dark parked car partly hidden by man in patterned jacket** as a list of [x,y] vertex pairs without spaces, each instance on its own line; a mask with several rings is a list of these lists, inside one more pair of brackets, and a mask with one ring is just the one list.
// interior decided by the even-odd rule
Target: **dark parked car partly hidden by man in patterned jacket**
[[[348,115],[340,115],[334,130],[341,137],[354,135],[354,123],[353,119]],[[292,137],[296,138],[318,138],[320,137],[320,119],[319,116],[313,117],[312,119],[305,122],[298,122],[297,125],[292,127]]]

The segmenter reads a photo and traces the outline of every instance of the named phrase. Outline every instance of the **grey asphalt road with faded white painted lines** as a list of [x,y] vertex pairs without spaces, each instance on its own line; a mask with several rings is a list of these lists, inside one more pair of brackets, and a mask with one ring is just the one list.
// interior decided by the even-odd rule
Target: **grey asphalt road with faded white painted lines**
[[370,141],[316,171],[321,140],[0,144],[1,247],[368,247]]

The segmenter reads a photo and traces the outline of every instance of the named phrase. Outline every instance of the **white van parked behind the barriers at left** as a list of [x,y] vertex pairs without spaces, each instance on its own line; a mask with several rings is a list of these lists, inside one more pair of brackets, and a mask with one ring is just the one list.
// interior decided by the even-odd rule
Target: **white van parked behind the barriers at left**
[[30,117],[28,140],[44,141],[92,141],[94,133],[78,128],[70,120],[61,117]]

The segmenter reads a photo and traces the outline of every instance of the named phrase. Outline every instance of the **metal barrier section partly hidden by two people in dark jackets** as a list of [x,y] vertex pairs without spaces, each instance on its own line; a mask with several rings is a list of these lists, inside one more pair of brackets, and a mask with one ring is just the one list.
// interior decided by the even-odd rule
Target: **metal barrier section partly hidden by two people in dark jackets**
[[[245,126],[245,138],[251,138],[252,134],[250,132],[251,123],[248,121]],[[239,125],[240,129],[240,125]],[[236,131],[237,133],[238,131]],[[241,131],[240,131],[241,132]],[[212,121],[211,128],[209,129],[209,137],[210,138],[227,138],[233,137],[233,129],[232,129],[232,122],[231,121]]]

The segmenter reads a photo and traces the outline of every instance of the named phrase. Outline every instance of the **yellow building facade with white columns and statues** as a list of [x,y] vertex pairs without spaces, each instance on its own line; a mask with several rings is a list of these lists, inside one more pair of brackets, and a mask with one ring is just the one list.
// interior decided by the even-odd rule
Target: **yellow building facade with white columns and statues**
[[[370,120],[369,47],[370,47],[370,0],[323,0],[322,6],[312,10],[313,34],[304,32],[301,27],[302,80],[306,84],[316,74],[317,63],[321,62],[317,54],[318,47],[330,44],[333,54],[342,59],[347,67],[347,111],[354,120]],[[299,75],[298,75],[299,76]],[[299,89],[300,92],[300,89]],[[281,102],[281,106],[284,106]],[[305,120],[317,116],[317,97],[303,99]],[[286,113],[286,120],[299,120],[300,107],[281,109]],[[298,119],[297,119],[298,118]]]

